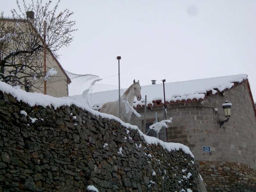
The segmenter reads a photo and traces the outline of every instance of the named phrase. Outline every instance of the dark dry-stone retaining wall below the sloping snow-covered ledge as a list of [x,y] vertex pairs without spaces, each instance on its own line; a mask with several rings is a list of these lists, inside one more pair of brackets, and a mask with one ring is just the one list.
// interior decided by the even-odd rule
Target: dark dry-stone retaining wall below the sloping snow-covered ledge
[[197,192],[199,181],[190,155],[148,145],[136,129],[0,92],[0,191]]

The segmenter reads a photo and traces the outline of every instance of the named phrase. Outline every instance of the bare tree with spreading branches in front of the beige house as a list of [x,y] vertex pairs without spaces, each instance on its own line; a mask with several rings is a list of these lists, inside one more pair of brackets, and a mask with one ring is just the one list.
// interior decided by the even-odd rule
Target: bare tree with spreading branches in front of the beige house
[[42,0],[17,0],[12,18],[0,16],[0,80],[12,85],[33,86],[33,81],[44,77],[44,21],[47,57],[59,57],[57,53],[68,46],[75,21],[69,18],[73,12],[65,9],[57,14],[60,0],[51,8],[52,1],[43,5]]

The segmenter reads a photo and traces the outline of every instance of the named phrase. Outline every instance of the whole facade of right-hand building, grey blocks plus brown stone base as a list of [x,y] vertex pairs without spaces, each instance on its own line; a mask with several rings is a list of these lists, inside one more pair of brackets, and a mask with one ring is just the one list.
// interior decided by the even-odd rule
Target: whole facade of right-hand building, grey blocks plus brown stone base
[[[226,119],[222,109],[226,100],[232,104],[231,116],[228,122],[220,126],[219,122]],[[147,106],[147,120],[155,119],[156,113],[158,121],[163,120],[164,103],[161,100],[153,103]],[[144,107],[137,106],[136,111],[144,115]],[[231,88],[215,94],[208,91],[204,99],[166,101],[166,116],[172,117],[172,124],[166,129],[162,128],[167,132],[167,142],[182,143],[190,148],[200,174],[208,178],[205,183],[209,191],[234,189],[227,184],[229,182],[223,185],[216,181],[216,177],[219,178],[216,173],[220,174],[224,169],[228,170],[225,172],[227,175],[220,176],[221,180],[225,176],[234,177],[233,173],[246,175],[246,172],[250,172],[250,177],[255,179],[256,117],[248,79],[234,82]],[[134,124],[139,127],[143,125],[143,121],[143,117],[134,118]],[[237,169],[243,168],[237,171],[236,166]],[[241,182],[247,180],[246,177],[239,178]]]

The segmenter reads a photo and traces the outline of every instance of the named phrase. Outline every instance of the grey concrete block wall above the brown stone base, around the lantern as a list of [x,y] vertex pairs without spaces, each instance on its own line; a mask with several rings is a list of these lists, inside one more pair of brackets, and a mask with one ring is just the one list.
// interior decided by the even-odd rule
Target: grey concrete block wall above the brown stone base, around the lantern
[[[220,127],[219,121],[226,119],[221,107],[226,100],[232,104],[231,116]],[[144,115],[144,108],[137,111]],[[156,112],[163,119],[163,105],[148,107],[147,119],[154,118]],[[173,120],[167,128],[167,141],[188,146],[196,161],[239,162],[256,169],[256,118],[247,82],[223,94],[208,96],[202,102],[169,104],[168,117]],[[141,130],[143,118],[134,118],[134,124]],[[210,147],[211,152],[203,152],[204,146]]]

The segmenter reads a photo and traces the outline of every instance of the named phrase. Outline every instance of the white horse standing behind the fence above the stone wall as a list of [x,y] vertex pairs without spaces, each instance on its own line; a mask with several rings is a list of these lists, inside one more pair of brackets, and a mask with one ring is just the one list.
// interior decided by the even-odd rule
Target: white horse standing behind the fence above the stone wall
[[138,101],[141,100],[140,90],[141,90],[140,81],[138,80],[138,82],[135,82],[135,79],[134,79],[133,84],[121,96],[120,113],[119,113],[119,99],[113,102],[108,102],[103,104],[102,107],[100,108],[100,112],[114,115],[116,117],[119,117],[123,121],[130,122],[132,112],[135,111],[132,106],[134,97],[136,97]]

